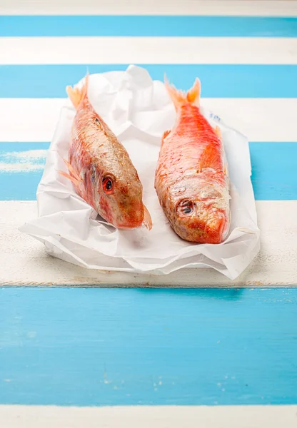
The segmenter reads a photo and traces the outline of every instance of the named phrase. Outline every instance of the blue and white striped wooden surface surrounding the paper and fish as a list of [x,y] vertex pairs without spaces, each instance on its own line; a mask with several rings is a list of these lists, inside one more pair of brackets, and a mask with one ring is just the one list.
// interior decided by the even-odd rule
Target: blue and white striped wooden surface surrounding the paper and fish
[[[66,84],[129,63],[199,76],[248,136],[261,252],[233,282],[84,270],[18,231]],[[297,426],[296,79],[296,1],[0,1],[1,427]]]

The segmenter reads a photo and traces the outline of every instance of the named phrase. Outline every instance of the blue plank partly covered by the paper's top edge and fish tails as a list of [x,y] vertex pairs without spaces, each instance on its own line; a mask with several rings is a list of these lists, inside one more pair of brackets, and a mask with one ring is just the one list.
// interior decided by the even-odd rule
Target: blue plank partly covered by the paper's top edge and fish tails
[[[297,24],[296,24],[297,25]],[[91,65],[90,73],[124,71],[129,64]],[[297,66],[139,64],[154,80],[164,73],[177,88],[187,90],[198,76],[208,98],[295,98]],[[67,85],[86,75],[86,65],[0,66],[1,98],[64,98]],[[46,83],[45,83],[46,82]],[[276,85],[276,82],[277,85]]]

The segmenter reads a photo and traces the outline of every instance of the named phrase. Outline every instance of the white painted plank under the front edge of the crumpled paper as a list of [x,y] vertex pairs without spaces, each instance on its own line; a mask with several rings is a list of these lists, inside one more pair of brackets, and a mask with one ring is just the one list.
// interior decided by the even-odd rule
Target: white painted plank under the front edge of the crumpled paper
[[[17,228],[36,216],[35,202],[0,202],[1,285],[288,286],[297,285],[297,200],[257,201],[261,252],[235,281],[213,270],[134,275],[85,270],[46,255]],[[2,262],[5,260],[5,263]]]

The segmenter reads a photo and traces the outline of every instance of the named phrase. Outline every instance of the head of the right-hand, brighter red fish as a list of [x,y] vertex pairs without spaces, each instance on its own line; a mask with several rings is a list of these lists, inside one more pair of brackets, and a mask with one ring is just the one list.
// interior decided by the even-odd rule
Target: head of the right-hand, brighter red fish
[[[175,200],[173,228],[181,238],[195,243],[219,244],[230,223],[229,197],[221,186],[187,183]],[[172,222],[171,222],[172,223]]]

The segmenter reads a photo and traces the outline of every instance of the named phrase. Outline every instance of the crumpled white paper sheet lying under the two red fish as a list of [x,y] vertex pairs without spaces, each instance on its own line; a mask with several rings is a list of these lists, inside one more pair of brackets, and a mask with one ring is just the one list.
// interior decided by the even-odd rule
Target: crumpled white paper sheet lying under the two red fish
[[90,269],[160,275],[184,267],[212,267],[231,280],[238,277],[260,248],[246,137],[203,109],[202,98],[201,111],[213,126],[220,126],[223,136],[231,178],[231,228],[220,245],[196,245],[173,232],[154,190],[161,136],[172,128],[176,118],[163,83],[152,81],[144,68],[136,66],[92,74],[89,99],[124,144],[138,170],[144,204],[153,220],[152,230],[117,230],[99,218],[76,194],[70,180],[57,172],[66,171],[62,158],[68,159],[75,115],[67,100],[37,190],[39,216],[23,225],[21,232],[44,243],[54,257]]

